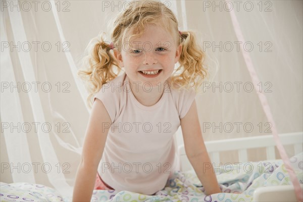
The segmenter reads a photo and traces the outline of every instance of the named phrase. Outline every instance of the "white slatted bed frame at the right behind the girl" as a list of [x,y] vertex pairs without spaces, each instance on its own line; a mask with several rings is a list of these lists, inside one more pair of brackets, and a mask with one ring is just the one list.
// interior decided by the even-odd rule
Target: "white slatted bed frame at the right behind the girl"
[[[294,153],[302,152],[303,132],[285,133],[279,135],[283,145],[293,145]],[[219,165],[220,152],[237,150],[239,163],[247,162],[247,149],[266,147],[267,160],[275,160],[275,141],[273,135],[233,138],[205,142],[212,163]],[[184,144],[178,147],[180,169],[188,171],[193,169],[185,154]],[[301,185],[302,188],[302,185]],[[254,192],[254,201],[296,201],[292,185],[260,187]]]

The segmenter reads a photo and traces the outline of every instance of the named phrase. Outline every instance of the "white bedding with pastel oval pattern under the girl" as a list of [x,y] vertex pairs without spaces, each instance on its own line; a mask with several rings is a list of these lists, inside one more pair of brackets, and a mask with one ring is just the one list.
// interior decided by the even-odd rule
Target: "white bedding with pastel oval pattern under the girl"
[[[290,162],[303,183],[302,153]],[[207,167],[206,167],[207,169]],[[282,160],[224,164],[215,168],[222,193],[205,195],[204,188],[193,170],[176,171],[165,188],[155,195],[130,191],[94,190],[91,201],[254,201],[256,188],[291,184]],[[72,201],[63,198],[54,188],[30,183],[1,183],[1,201]]]

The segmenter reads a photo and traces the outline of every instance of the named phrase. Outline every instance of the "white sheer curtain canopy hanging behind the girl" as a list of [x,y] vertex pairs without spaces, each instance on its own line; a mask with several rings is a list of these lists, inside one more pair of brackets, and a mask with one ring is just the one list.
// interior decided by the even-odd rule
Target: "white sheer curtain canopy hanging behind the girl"
[[[302,1],[163,2],[177,15],[179,30],[196,31],[208,56],[210,76],[196,97],[205,140],[271,134],[256,90],[265,93],[279,133],[302,131]],[[262,82],[259,89],[250,89],[237,49],[244,44],[236,38],[227,4],[240,23]],[[39,183],[71,193],[89,117],[78,62],[99,32],[111,41],[107,25],[126,6],[1,2],[2,182]],[[177,139],[182,142],[181,134]],[[293,155],[293,148],[286,150]],[[264,160],[264,154],[265,149],[251,150],[249,161]],[[236,153],[221,159],[238,161]]]

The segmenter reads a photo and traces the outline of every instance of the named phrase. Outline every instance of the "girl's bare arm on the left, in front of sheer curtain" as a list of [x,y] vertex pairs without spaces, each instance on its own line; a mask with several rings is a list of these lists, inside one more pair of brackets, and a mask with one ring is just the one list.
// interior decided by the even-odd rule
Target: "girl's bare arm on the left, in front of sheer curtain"
[[[111,118],[102,101],[95,99],[89,117],[81,162],[77,170],[73,201],[90,201],[95,184],[98,164],[102,158]],[[108,126],[108,124],[106,126]]]

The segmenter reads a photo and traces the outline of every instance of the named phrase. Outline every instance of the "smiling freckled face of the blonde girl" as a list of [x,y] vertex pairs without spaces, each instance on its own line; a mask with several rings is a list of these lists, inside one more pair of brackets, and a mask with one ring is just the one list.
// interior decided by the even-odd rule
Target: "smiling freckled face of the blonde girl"
[[157,86],[164,84],[172,75],[181,51],[182,45],[177,47],[166,30],[148,25],[143,35],[123,43],[121,53],[116,51],[115,56],[130,82],[137,82],[138,85],[149,82]]

